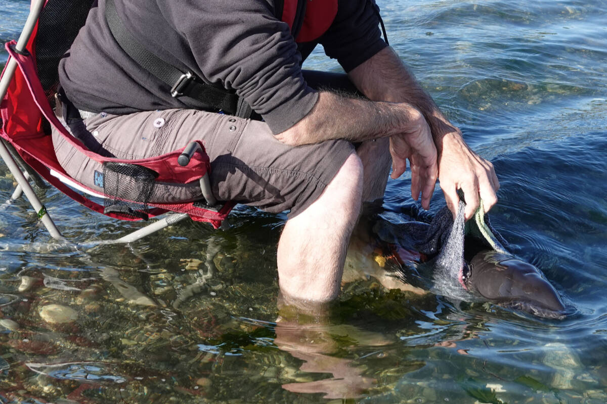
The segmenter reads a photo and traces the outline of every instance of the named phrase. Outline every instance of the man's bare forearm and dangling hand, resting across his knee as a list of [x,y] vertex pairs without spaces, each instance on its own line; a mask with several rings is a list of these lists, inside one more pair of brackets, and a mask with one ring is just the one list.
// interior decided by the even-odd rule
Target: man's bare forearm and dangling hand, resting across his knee
[[347,98],[324,91],[304,119],[276,135],[290,145],[330,139],[364,142],[388,136],[392,177],[401,176],[409,160],[412,197],[418,199],[421,192],[422,206],[429,208],[438,175],[436,147],[426,119],[411,104]]

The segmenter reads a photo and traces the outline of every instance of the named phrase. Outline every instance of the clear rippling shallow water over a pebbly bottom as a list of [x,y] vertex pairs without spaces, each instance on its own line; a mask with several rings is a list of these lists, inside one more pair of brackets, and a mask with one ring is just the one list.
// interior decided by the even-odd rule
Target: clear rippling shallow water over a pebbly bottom
[[[0,402],[607,402],[606,2],[379,4],[390,43],[494,162],[493,225],[575,313],[541,320],[351,276],[330,316],[277,322],[285,216],[240,207],[228,230],[188,223],[91,247],[139,225],[47,190],[80,247],[50,239],[24,200],[0,212]],[[27,7],[0,0],[0,39]],[[307,67],[337,69],[320,51]],[[388,182],[387,224],[418,210],[408,185]],[[442,204],[437,188],[432,213]],[[350,274],[381,262],[361,240]],[[42,320],[52,305],[76,319]]]

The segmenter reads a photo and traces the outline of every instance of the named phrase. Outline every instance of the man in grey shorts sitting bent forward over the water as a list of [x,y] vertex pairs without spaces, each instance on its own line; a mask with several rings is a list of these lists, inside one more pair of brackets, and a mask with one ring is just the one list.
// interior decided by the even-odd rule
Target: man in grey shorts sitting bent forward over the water
[[[106,16],[114,8],[135,38],[131,48],[193,73],[219,98],[235,92],[263,121],[219,108],[217,96],[171,94],[115,40]],[[75,106],[66,118],[87,147],[120,158],[202,141],[217,199],[290,210],[277,256],[283,295],[325,302],[339,293],[361,204],[382,197],[390,161],[396,178],[409,160],[411,194],[421,194],[424,208],[437,177],[453,212],[456,190],[464,191],[467,218],[479,196],[486,210],[497,202],[492,164],[470,150],[381,39],[379,22],[373,0],[99,0],[59,65]],[[317,43],[342,65],[347,85],[331,75],[311,87],[301,63]],[[348,86],[365,98],[330,90]],[[98,187],[97,163],[56,134],[53,141],[67,173]]]

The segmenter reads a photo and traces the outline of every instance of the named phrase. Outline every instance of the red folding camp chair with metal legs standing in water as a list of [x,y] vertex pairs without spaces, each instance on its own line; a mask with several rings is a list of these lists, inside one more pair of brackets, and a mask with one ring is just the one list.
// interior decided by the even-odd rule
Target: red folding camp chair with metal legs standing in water
[[[12,198],[19,197],[21,191],[25,193],[50,235],[56,239],[61,238],[61,233],[33,191],[29,179],[43,185],[42,177],[76,202],[117,219],[141,220],[172,212],[113,242],[132,242],[187,217],[219,227],[234,203],[217,204],[212,196],[209,157],[202,144],[192,142],[180,150],[147,159],[115,159],[87,150],[56,118],[52,105],[58,85],[58,61],[84,24],[91,3],[90,0],[32,0],[29,18],[19,40],[5,45],[10,58],[0,80],[0,156],[18,183]],[[50,125],[78,152],[101,162],[104,171],[113,173],[114,189],[104,187],[100,194],[67,175],[56,159]],[[192,183],[200,184],[200,200],[168,204],[146,200],[154,187]],[[107,203],[104,206],[93,202],[91,195],[123,205],[124,210],[110,211]]]

